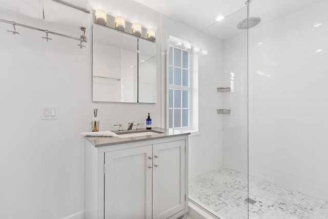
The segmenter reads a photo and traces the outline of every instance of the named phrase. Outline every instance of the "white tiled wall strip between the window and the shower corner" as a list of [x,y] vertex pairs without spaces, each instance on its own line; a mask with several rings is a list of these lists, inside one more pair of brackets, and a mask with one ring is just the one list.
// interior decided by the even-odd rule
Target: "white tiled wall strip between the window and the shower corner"
[[222,115],[216,109],[222,106],[222,96],[216,88],[222,84],[222,43],[203,34],[198,34],[199,55],[198,115],[200,135],[190,136],[189,178],[222,166]]

